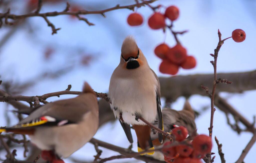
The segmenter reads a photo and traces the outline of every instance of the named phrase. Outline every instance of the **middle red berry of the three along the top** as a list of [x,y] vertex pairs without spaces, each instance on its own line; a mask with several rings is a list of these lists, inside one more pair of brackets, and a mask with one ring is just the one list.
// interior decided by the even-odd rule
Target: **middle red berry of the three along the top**
[[165,27],[164,15],[159,12],[153,13],[148,19],[148,25],[153,30],[161,29]]

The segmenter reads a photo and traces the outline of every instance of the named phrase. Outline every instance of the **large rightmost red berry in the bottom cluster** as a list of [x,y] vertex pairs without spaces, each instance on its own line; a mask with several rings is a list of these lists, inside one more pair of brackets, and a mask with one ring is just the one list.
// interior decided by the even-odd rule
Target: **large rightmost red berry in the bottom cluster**
[[202,155],[210,153],[212,148],[211,138],[207,135],[197,135],[192,141],[192,146],[195,151]]

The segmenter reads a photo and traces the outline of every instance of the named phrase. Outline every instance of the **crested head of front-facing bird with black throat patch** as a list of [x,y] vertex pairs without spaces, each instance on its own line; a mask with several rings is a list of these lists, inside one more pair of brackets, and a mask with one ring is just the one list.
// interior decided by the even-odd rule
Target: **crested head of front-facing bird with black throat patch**
[[121,48],[120,64],[125,69],[136,69],[145,63],[147,64],[146,58],[138,48],[134,38],[132,36],[126,37]]

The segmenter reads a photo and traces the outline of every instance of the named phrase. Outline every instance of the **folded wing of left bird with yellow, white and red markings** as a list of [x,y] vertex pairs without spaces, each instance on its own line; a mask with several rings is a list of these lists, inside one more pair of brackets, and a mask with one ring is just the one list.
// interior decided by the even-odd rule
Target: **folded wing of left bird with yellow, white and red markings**
[[88,112],[85,109],[86,107],[85,103],[79,102],[76,98],[48,103],[38,107],[17,125],[5,129],[20,130],[41,126],[62,126],[78,123],[83,115]]

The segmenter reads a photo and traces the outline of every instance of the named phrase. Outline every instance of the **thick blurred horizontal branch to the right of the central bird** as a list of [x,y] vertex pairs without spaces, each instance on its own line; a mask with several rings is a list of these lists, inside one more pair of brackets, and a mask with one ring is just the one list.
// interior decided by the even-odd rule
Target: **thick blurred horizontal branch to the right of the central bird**
[[[219,84],[218,92],[242,93],[256,89],[256,71],[239,73],[217,73],[218,78],[228,78],[232,84]],[[201,85],[212,89],[212,74],[177,75],[172,77],[159,77],[161,85],[161,97],[168,101],[176,101],[180,96],[189,97],[194,94],[207,96]]]

